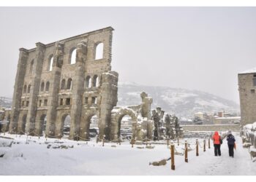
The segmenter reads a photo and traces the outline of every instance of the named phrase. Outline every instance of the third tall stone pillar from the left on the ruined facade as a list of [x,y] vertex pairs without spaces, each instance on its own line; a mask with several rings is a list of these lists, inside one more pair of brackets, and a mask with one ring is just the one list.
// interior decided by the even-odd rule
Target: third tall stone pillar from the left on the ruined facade
[[50,76],[50,88],[48,96],[48,111],[47,111],[47,123],[46,134],[47,135],[59,135],[56,133],[56,118],[57,107],[59,106],[59,85],[61,82],[61,67],[63,65],[64,44],[56,42],[55,52],[53,55],[53,69]]

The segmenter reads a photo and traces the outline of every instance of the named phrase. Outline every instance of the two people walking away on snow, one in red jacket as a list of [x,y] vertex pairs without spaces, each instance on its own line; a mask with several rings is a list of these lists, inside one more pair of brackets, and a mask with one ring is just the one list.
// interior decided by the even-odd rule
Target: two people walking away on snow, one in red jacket
[[[222,144],[222,137],[219,135],[219,132],[214,132],[212,136],[214,141],[214,154],[215,156],[221,156],[220,146]],[[231,130],[227,132],[227,146],[230,157],[234,157],[234,148],[236,147],[236,139],[232,135]]]

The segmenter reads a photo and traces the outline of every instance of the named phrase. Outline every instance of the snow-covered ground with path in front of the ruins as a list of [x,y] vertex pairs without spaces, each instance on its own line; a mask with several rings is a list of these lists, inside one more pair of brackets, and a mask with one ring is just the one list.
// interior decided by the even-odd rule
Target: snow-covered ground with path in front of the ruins
[[[1,134],[1,137],[3,134]],[[9,135],[0,138],[0,175],[256,175],[256,162],[252,162],[248,149],[242,148],[241,138],[236,136],[235,157],[228,156],[226,141],[222,144],[222,156],[214,157],[206,146],[203,152],[203,140],[199,139],[199,156],[195,155],[195,138],[189,138],[192,151],[188,153],[189,162],[184,156],[175,156],[176,170],[170,170],[170,160],[164,166],[152,166],[149,162],[170,157],[167,145],[154,144],[154,149],[145,149],[145,145],[131,147],[129,142],[95,143],[89,141],[69,141],[65,139],[47,139],[26,135]],[[13,141],[12,147],[4,147]],[[64,143],[62,143],[64,142]],[[184,143],[181,140],[181,143]],[[208,143],[208,142],[207,142]],[[48,149],[48,146],[50,149]],[[68,149],[53,149],[53,146],[69,146]],[[113,147],[116,146],[116,147]],[[138,149],[137,147],[144,147]],[[176,151],[183,154],[184,144]]]

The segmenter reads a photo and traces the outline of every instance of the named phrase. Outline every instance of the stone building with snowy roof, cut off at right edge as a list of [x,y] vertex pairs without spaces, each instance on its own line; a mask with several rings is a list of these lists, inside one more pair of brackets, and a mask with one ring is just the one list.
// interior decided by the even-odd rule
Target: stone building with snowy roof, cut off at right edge
[[256,122],[256,68],[238,74],[241,125]]

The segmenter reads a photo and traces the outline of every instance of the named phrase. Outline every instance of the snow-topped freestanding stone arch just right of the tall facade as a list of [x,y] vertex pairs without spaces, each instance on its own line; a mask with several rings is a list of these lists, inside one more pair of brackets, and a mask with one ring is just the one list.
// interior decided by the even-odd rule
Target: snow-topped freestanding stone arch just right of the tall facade
[[137,127],[137,112],[131,108],[117,108],[113,109],[111,113],[111,123],[110,123],[110,139],[117,140],[120,137],[120,127],[121,119],[124,116],[130,116],[132,118],[132,138],[136,137],[136,127]]

